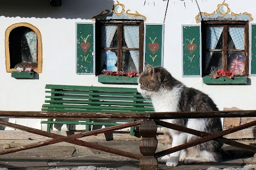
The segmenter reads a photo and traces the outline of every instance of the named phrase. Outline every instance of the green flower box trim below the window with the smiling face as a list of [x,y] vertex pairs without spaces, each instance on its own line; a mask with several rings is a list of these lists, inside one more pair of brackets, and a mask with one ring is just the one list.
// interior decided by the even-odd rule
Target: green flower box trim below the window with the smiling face
[[212,76],[203,77],[205,84],[247,84],[247,77],[234,77],[232,79],[227,77],[213,78]]

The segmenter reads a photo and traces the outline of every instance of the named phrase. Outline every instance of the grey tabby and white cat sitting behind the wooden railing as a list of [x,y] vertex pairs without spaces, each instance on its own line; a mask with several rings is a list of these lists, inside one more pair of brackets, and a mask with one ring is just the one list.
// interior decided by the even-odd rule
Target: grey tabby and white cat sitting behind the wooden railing
[[[163,67],[153,67],[145,63],[145,71],[138,79],[138,92],[150,96],[156,112],[218,111],[212,99],[203,92],[186,87],[174,79]],[[220,118],[186,118],[164,120],[169,123],[186,126],[190,129],[215,133],[222,131]],[[166,129],[165,144],[175,147],[199,139],[196,135]],[[167,166],[219,162],[223,143],[208,141],[197,146],[165,155],[161,158]]]

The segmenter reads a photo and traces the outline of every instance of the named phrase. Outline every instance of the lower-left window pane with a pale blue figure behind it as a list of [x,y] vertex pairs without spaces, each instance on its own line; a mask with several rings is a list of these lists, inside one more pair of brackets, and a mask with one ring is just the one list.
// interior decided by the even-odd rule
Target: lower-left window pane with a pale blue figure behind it
[[101,70],[117,71],[117,50],[101,50]]

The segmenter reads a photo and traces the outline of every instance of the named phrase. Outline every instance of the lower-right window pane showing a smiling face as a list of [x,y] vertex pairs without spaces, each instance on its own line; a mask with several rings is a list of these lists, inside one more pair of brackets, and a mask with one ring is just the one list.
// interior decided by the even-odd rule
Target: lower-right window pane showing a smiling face
[[228,53],[228,70],[234,71],[235,75],[244,75],[244,52]]

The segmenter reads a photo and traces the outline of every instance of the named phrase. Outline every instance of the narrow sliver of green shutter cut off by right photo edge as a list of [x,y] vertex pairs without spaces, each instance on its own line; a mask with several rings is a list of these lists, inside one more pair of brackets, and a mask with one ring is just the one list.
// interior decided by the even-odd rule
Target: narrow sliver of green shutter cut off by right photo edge
[[251,75],[256,75],[256,24],[251,24]]

